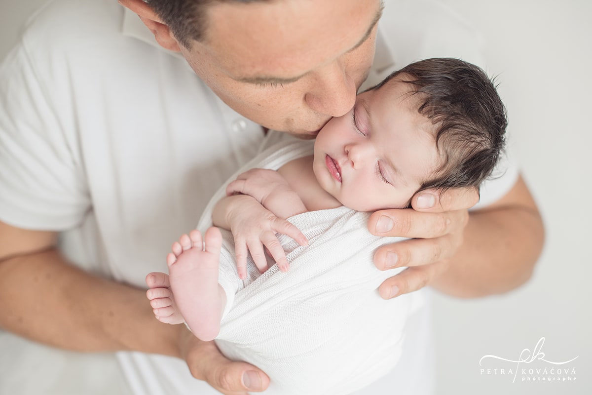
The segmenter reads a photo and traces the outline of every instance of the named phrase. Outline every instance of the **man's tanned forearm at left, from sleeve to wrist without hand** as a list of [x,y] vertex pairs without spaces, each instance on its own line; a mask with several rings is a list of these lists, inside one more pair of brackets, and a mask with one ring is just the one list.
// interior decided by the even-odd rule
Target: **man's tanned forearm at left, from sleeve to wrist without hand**
[[54,249],[0,263],[0,327],[76,351],[179,355],[177,326],[158,322],[138,290],[68,264]]

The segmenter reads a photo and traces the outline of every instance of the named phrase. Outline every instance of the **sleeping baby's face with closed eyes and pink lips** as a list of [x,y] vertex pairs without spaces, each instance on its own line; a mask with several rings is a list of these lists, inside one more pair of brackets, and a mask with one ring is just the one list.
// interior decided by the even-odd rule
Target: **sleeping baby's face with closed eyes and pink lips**
[[321,187],[358,211],[406,207],[440,164],[433,125],[415,100],[410,86],[394,78],[330,120],[314,144]]

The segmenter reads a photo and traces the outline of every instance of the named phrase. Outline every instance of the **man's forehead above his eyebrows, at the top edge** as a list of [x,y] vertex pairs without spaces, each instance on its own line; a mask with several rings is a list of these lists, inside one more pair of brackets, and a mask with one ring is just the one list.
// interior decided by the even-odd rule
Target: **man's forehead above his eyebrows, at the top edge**
[[381,11],[379,0],[224,2],[201,46],[231,78],[297,79],[361,45]]

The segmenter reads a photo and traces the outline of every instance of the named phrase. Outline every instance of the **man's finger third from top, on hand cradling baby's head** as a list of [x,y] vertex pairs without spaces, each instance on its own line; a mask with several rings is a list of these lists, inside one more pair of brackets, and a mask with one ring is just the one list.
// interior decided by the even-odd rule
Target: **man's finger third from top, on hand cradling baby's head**
[[454,255],[459,243],[462,243],[462,239],[452,235],[392,243],[377,250],[374,265],[380,270],[388,270],[433,264]]

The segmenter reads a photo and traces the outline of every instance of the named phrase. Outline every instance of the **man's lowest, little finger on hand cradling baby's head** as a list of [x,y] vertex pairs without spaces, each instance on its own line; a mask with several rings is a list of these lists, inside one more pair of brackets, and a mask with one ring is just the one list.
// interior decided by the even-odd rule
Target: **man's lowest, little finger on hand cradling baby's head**
[[378,292],[383,299],[391,299],[420,290],[445,271],[447,267],[448,261],[444,260],[432,265],[407,268],[382,282]]

